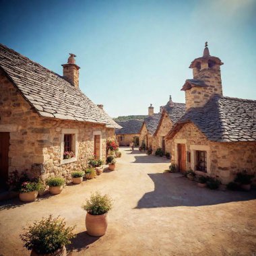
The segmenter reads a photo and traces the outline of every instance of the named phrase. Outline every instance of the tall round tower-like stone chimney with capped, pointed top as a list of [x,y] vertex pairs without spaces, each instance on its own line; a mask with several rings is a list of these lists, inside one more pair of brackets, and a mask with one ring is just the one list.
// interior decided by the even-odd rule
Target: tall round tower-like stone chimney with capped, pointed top
[[214,94],[223,95],[220,65],[222,61],[210,55],[205,42],[203,57],[194,59],[189,66],[193,69],[193,79],[187,79],[181,89],[185,91],[187,110],[204,106]]

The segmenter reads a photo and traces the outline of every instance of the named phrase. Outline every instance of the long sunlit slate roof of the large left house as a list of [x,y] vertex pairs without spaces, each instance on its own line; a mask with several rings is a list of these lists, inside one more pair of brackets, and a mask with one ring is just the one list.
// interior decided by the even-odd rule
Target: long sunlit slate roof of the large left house
[[120,128],[81,90],[61,75],[0,44],[0,67],[41,117],[105,124]]

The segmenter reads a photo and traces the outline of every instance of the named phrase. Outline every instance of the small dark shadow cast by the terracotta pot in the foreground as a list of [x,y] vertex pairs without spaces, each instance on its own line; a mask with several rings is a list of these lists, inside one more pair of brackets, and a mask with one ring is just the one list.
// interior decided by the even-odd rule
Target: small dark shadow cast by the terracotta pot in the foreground
[[75,238],[71,240],[70,245],[66,245],[68,255],[71,255],[71,251],[82,251],[87,249],[89,245],[96,242],[100,237],[89,236],[86,231],[78,233]]

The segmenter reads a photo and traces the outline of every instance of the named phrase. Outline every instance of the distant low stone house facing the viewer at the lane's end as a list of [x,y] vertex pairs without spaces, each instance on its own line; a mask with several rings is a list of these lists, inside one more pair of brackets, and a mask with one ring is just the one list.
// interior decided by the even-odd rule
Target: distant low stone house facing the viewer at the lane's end
[[135,146],[139,146],[139,131],[142,127],[143,120],[129,119],[127,121],[117,121],[123,127],[115,129],[115,134],[119,142],[119,146],[129,146],[135,141]]

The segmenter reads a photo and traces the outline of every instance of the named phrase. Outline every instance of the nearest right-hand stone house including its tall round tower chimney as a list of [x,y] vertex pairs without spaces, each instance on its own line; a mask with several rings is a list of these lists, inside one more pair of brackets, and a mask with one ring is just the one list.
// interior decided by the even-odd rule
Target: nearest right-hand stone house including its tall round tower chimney
[[192,61],[193,79],[181,89],[186,113],[166,139],[181,172],[191,168],[227,184],[236,172],[256,173],[256,100],[222,95],[222,64],[207,45],[203,57]]

